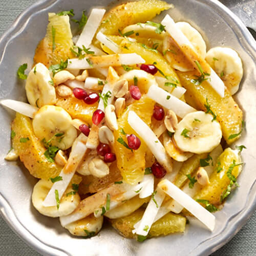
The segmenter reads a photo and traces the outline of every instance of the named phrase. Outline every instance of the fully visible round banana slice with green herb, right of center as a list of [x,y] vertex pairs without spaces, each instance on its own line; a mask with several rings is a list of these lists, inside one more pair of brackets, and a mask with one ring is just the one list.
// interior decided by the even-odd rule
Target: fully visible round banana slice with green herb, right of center
[[212,151],[222,137],[219,122],[203,111],[187,114],[177,125],[174,139],[184,152],[202,154]]

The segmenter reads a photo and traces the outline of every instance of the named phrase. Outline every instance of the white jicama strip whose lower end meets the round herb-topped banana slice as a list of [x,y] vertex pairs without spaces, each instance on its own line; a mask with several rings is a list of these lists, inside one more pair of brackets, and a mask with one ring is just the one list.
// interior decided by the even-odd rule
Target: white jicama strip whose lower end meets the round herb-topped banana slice
[[196,111],[190,105],[184,101],[174,97],[173,95],[165,92],[162,88],[157,86],[152,86],[148,92],[147,96],[155,100],[160,105],[168,110],[172,110],[175,114],[183,118],[188,113]]

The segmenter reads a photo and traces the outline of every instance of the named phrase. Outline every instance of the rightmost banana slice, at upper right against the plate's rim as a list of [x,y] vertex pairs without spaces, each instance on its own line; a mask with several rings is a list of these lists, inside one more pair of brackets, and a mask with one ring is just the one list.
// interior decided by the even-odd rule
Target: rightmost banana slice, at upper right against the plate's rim
[[222,79],[231,95],[235,94],[243,77],[242,60],[237,52],[228,47],[215,47],[206,53],[205,60]]

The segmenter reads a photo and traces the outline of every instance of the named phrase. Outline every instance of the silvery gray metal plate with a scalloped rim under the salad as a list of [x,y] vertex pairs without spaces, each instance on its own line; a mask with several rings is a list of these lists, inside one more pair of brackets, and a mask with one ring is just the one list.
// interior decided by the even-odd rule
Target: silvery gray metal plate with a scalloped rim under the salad
[[[29,67],[32,66],[36,45],[45,35],[47,13],[71,8],[75,13],[81,13],[82,10],[90,10],[93,7],[90,2],[39,1],[18,17],[0,40],[0,98],[25,100],[24,82],[16,79],[16,70],[25,62]],[[110,2],[95,0],[94,6],[104,6]],[[57,219],[40,215],[31,205],[31,192],[36,179],[28,174],[22,164],[4,161],[4,156],[10,148],[10,122],[14,113],[1,108],[1,214],[10,227],[41,254],[207,255],[230,240],[255,210],[255,41],[240,19],[218,1],[174,0],[172,3],[176,8],[170,10],[169,14],[176,21],[188,21],[199,29],[208,49],[229,46],[236,49],[243,60],[244,78],[236,96],[246,120],[246,133],[243,133],[243,137],[237,142],[247,146],[247,150],[243,152],[246,165],[239,177],[240,188],[228,198],[223,210],[216,212],[217,223],[214,232],[206,230],[198,221],[192,220],[185,233],[150,239],[144,243],[124,239],[106,226],[98,236],[91,239],[72,237],[60,226]]]

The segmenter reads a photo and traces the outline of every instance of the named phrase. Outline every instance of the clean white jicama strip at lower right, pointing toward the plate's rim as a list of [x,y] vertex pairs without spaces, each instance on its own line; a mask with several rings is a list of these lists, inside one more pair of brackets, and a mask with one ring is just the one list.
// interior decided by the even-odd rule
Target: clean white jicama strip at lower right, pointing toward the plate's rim
[[191,212],[191,214],[199,219],[211,231],[214,230],[215,216],[207,211],[199,203],[197,203],[194,199],[185,194],[172,182],[168,180],[162,180],[158,183],[158,187],[161,188],[168,196],[179,202],[184,208]]

